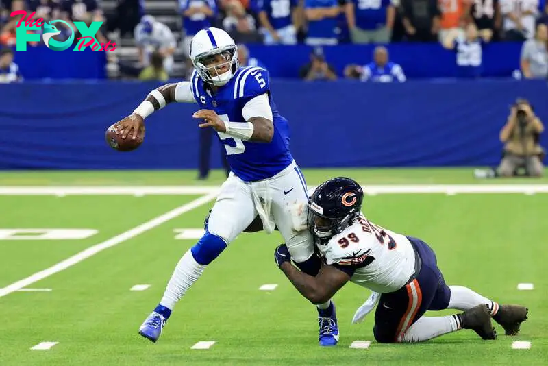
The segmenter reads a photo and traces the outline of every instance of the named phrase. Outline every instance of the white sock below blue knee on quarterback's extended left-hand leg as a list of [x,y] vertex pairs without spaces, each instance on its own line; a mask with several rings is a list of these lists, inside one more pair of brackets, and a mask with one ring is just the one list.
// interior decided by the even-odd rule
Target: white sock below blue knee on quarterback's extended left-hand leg
[[183,297],[190,286],[201,276],[205,265],[200,265],[192,256],[190,249],[182,256],[167,284],[160,305],[173,310],[173,307]]

